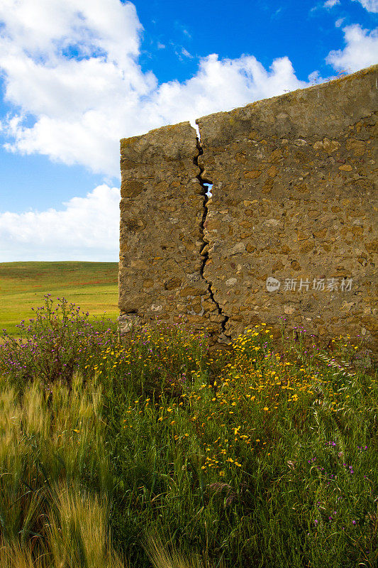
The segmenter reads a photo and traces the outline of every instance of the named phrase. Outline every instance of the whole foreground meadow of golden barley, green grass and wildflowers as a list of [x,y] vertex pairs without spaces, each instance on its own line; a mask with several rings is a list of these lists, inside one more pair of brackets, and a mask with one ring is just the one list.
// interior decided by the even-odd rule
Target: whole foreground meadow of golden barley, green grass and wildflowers
[[356,347],[227,349],[46,296],[0,346],[0,565],[373,568],[378,381]]

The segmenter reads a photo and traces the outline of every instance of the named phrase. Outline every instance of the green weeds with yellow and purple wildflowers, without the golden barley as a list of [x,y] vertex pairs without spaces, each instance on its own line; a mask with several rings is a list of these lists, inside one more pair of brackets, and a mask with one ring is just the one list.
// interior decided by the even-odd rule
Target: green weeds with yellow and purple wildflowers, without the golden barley
[[[34,361],[20,353],[31,353],[38,334],[26,348],[3,346],[3,382],[25,391],[40,373],[49,400],[61,378],[70,385],[75,376],[88,393],[101,386],[94,436],[99,428],[103,473],[84,468],[77,482],[106,494],[114,546],[130,567],[151,566],[146,528],[168,556],[172,547],[198,553],[207,567],[376,565],[377,377],[345,365],[348,342],[344,362],[298,342],[282,351],[260,324],[213,351],[204,334],[180,326],[135,329],[121,340],[114,328],[75,323],[75,310],[67,327],[51,312],[56,331],[42,334]],[[71,375],[61,364],[61,375],[38,371],[57,360],[43,349],[52,336],[72,341]],[[74,435],[79,444],[80,425]],[[87,447],[88,457],[99,454]]]

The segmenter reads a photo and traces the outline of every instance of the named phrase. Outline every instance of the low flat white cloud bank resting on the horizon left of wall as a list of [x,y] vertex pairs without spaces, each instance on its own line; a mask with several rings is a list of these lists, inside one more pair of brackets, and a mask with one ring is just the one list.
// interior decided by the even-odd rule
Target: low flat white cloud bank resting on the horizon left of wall
[[99,185],[64,208],[0,214],[0,262],[118,261],[118,187]]

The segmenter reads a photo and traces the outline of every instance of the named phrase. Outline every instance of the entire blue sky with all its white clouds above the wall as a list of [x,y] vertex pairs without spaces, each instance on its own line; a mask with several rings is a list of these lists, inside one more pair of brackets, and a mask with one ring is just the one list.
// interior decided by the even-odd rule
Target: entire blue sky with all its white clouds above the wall
[[118,140],[378,60],[377,0],[2,0],[0,262],[118,260]]

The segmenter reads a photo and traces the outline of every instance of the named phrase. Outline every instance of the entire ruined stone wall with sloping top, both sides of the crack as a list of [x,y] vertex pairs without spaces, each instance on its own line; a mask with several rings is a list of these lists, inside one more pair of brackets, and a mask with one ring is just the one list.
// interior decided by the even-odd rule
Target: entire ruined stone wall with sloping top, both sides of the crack
[[225,340],[281,316],[372,344],[377,77],[204,116],[200,147],[189,123],[121,141],[125,319],[158,314]]

